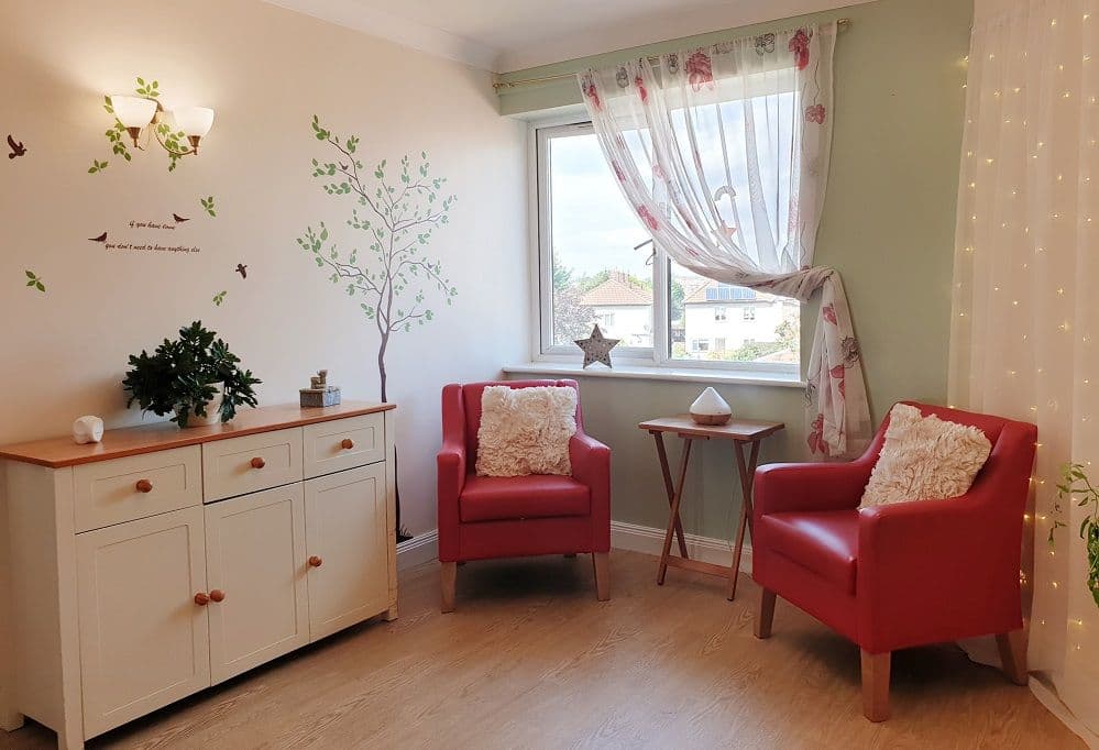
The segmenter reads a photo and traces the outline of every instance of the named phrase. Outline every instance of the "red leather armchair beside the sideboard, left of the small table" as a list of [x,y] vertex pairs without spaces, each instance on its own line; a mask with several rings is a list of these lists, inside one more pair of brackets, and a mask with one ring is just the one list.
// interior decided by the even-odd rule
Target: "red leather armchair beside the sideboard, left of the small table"
[[[481,395],[492,385],[574,388],[572,476],[477,476]],[[584,434],[575,380],[507,380],[442,389],[439,451],[439,562],[442,611],[454,609],[459,562],[538,554],[591,553],[598,599],[611,598],[611,449]]]

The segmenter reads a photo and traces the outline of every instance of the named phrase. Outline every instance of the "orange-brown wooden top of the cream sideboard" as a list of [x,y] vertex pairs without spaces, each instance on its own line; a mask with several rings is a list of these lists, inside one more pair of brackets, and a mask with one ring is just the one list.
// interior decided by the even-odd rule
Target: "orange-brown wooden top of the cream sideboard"
[[121,459],[128,455],[165,451],[172,448],[199,445],[226,438],[240,438],[257,432],[327,422],[344,417],[360,417],[395,408],[395,404],[371,404],[367,401],[344,401],[339,406],[323,408],[303,408],[296,404],[263,406],[238,411],[237,417],[228,424],[180,429],[172,422],[157,422],[107,430],[103,433],[102,442],[87,445],[77,445],[68,435],[0,445],[0,459],[22,461],[50,468],[63,468],[96,461]]

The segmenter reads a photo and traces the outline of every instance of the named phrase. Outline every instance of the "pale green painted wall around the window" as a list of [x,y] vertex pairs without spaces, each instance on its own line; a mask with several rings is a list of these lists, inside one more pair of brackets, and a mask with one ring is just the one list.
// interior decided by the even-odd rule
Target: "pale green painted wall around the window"
[[[949,340],[955,203],[964,119],[963,58],[969,0],[878,0],[773,24],[614,52],[505,76],[570,73],[642,54],[680,49],[776,25],[849,18],[836,44],[832,172],[817,242],[817,263],[843,274],[862,345],[875,421],[897,400],[944,402]],[[571,80],[504,91],[501,110],[523,114],[575,104]],[[803,317],[803,339],[814,324]],[[807,351],[807,341],[805,349]],[[579,356],[578,356],[579,361]],[[667,500],[644,419],[685,411],[703,386],[581,377],[589,431],[614,455],[615,520],[663,527]],[[795,388],[718,387],[735,412],[781,419],[761,462],[801,460],[803,395]],[[672,452],[678,461],[679,450]],[[684,499],[688,531],[729,538],[734,497],[732,449],[705,445]]]

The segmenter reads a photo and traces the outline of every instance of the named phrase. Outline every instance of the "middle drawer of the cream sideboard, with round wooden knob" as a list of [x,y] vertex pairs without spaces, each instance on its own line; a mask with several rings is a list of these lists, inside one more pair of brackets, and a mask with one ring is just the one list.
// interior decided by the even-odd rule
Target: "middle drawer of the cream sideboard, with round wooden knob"
[[206,501],[301,481],[301,428],[202,444]]

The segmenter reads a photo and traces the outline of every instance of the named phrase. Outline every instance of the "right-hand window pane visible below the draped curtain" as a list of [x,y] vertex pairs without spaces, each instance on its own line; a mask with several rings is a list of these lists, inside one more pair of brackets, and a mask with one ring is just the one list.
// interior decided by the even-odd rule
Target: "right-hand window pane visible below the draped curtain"
[[671,264],[669,330],[674,360],[801,362],[801,305],[718,284]]

